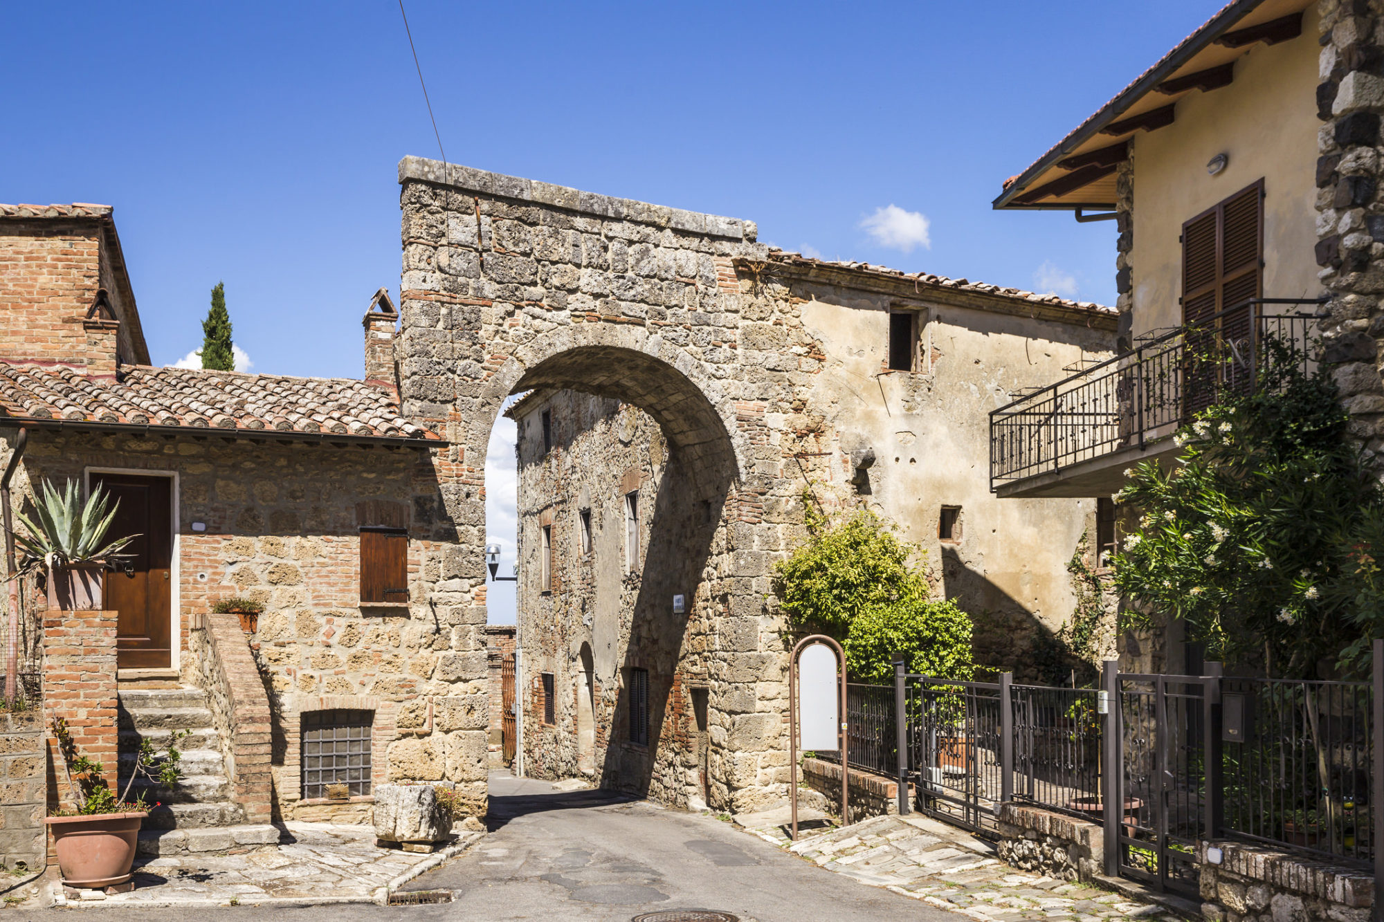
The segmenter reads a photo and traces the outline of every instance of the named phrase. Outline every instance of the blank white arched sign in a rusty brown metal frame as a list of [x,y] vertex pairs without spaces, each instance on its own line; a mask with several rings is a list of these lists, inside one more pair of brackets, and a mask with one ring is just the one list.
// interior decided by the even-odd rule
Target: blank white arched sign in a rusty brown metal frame
[[825,634],[804,637],[793,647],[787,678],[789,799],[793,840],[797,840],[797,753],[835,749],[841,753],[841,825],[850,825],[846,753],[846,653]]

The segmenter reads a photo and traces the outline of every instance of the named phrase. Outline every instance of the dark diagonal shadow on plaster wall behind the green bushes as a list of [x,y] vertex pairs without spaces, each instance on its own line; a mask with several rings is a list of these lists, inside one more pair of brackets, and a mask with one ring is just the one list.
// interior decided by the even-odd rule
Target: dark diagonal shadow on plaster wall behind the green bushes
[[[977,573],[956,548],[943,545],[943,594],[970,615],[976,662],[1013,671],[1014,681],[1078,687],[1096,681],[1096,669],[1030,612],[1023,602]],[[1070,615],[1068,615],[1070,617]]]

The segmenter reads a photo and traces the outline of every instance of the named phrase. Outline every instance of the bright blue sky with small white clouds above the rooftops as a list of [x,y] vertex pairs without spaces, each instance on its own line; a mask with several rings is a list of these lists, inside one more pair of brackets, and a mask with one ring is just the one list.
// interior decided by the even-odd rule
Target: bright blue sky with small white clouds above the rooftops
[[[1217,7],[406,0],[451,162],[1104,303],[1111,223],[990,202]],[[156,364],[224,281],[253,371],[361,374],[396,165],[437,156],[394,0],[7,4],[0,28],[0,201],[115,206]]]

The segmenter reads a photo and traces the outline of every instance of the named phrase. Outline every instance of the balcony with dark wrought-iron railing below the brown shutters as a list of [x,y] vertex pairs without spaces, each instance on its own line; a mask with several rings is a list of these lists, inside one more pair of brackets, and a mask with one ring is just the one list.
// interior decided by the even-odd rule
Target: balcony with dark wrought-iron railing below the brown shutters
[[1147,334],[1131,352],[992,410],[991,491],[1001,497],[1117,491],[1128,465],[1171,458],[1174,432],[1223,396],[1254,388],[1269,363],[1309,367],[1315,361],[1309,329],[1319,303],[1241,302],[1196,324]]

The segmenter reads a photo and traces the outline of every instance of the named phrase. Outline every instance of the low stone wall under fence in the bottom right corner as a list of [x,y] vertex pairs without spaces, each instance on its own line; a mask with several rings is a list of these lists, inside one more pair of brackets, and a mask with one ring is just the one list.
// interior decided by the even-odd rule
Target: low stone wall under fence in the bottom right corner
[[[1221,862],[1207,850],[1221,851]],[[1207,922],[1369,922],[1374,875],[1235,842],[1197,843]]]

